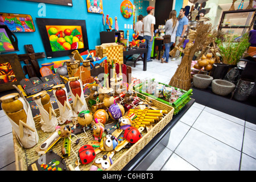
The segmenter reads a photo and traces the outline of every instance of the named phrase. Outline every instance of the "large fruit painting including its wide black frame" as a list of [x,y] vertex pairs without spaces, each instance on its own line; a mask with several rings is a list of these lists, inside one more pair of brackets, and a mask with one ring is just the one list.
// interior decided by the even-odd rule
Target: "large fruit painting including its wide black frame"
[[85,20],[36,18],[47,58],[89,49]]

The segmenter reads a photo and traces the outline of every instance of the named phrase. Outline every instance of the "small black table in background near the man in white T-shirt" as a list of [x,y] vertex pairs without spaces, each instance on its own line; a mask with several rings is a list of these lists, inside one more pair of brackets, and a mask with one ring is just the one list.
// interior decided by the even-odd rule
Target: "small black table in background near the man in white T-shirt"
[[[133,48],[127,49],[127,51],[123,51],[123,64],[126,64],[126,56],[136,55],[136,54],[143,54],[140,55],[137,60],[141,57],[143,61],[143,71],[147,71],[147,48]],[[135,63],[136,64],[136,63]]]

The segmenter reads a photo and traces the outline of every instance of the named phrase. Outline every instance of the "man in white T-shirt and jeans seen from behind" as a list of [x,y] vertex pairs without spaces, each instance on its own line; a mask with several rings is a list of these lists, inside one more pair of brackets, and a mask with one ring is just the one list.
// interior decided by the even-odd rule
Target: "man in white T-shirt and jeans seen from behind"
[[153,38],[154,38],[154,25],[155,25],[155,16],[154,14],[154,7],[148,6],[147,7],[147,13],[148,15],[143,18],[143,34],[146,47],[147,48],[147,62],[152,61],[150,59],[151,57],[151,51],[152,51],[152,44],[153,44]]

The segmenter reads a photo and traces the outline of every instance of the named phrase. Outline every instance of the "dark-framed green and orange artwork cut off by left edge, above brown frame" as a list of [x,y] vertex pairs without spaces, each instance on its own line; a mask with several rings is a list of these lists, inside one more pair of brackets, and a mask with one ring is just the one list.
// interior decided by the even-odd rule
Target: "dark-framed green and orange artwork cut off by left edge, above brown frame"
[[6,25],[0,25],[0,53],[19,51],[18,39]]

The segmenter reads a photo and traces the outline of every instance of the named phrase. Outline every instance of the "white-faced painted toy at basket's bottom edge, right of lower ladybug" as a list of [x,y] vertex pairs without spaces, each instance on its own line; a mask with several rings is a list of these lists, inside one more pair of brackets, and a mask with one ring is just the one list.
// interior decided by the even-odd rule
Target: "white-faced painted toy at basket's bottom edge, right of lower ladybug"
[[108,169],[113,164],[112,158],[113,158],[114,154],[115,154],[115,152],[111,151],[107,155],[97,158],[93,162],[89,171],[104,171],[104,170]]

